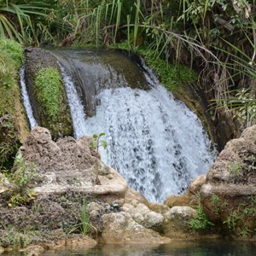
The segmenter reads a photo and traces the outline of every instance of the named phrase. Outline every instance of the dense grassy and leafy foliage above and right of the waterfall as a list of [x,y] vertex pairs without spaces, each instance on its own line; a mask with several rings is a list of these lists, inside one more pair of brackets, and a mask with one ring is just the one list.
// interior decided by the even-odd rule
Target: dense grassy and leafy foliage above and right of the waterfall
[[0,1],[0,32],[25,44],[126,42],[189,65],[213,108],[244,126],[255,123],[254,20],[255,0]]

